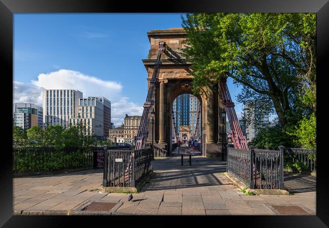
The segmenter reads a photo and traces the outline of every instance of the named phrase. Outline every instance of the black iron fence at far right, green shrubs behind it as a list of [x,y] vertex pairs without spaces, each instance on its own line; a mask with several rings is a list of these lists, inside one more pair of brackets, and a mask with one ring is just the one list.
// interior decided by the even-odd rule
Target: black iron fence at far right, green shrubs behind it
[[283,150],[285,166],[297,164],[303,171],[316,172],[316,149],[279,148]]

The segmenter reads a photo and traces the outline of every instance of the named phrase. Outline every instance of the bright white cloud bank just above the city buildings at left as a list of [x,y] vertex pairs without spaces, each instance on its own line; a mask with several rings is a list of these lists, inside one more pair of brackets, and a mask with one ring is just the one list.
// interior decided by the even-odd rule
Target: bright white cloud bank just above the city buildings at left
[[31,85],[14,81],[14,103],[34,103],[42,106],[43,89],[75,89],[84,97],[104,96],[111,101],[111,122],[119,125],[125,115],[142,115],[143,107],[130,102],[122,96],[122,85],[113,81],[104,81],[74,70],[60,69],[50,73],[41,73]]

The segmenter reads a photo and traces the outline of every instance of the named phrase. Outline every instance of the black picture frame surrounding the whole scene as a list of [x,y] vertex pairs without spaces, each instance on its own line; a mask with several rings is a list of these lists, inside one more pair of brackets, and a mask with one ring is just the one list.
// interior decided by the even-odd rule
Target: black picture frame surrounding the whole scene
[[[317,177],[316,177],[316,216],[188,216],[189,221],[206,222],[208,225],[228,225],[244,227],[327,227],[329,225],[329,198],[328,179],[326,174],[327,165],[324,149],[327,141],[324,123],[328,121],[324,118],[326,111],[326,98],[328,97],[325,88],[325,77],[327,73],[327,61],[329,55],[329,3],[328,0],[225,0],[225,1],[181,1],[155,2],[148,1],[144,4],[139,1],[104,1],[104,0],[0,0],[0,63],[3,66],[2,79],[6,84],[13,85],[13,14],[15,13],[181,13],[181,12],[309,12],[317,13]],[[145,31],[147,32],[147,31]],[[10,77],[12,75],[12,77]],[[5,91],[7,86],[2,87]],[[7,93],[3,93],[7,94]],[[6,98],[5,98],[6,97]],[[3,96],[3,101],[8,102],[11,107],[12,100]],[[164,216],[134,216],[134,219],[124,217],[107,216],[13,216],[13,184],[12,184],[12,153],[11,134],[12,113],[6,111],[6,102],[3,102],[3,137],[1,153],[1,213],[0,225],[4,227],[62,227],[68,222],[81,222],[99,225],[105,222],[113,225],[113,221],[121,223],[123,226],[131,225],[168,225],[173,224],[172,219]],[[8,108],[10,110],[10,108]],[[11,117],[9,117],[11,116]],[[8,121],[7,121],[8,120]],[[8,129],[9,133],[8,133]],[[7,149],[8,147],[8,149]],[[186,216],[185,216],[186,217]],[[185,218],[184,217],[184,218]],[[149,220],[152,218],[154,221]],[[205,220],[207,219],[207,220]],[[208,221],[208,220],[212,221]],[[143,223],[141,220],[143,220]],[[179,220],[182,220],[181,217]],[[185,220],[185,219],[184,219]],[[147,222],[149,223],[147,223]],[[200,224],[199,224],[200,225]]]

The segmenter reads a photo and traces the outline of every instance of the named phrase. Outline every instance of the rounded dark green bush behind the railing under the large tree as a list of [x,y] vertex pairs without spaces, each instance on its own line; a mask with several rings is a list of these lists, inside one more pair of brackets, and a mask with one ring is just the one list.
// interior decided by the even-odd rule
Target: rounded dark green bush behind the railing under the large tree
[[249,145],[256,147],[277,148],[280,145],[294,147],[292,136],[285,133],[280,126],[261,129]]

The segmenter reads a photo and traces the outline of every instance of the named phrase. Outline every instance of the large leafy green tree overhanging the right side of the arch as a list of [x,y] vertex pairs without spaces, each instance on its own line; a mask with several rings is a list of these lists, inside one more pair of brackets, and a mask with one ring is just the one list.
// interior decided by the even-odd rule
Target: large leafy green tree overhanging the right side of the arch
[[242,85],[238,101],[263,101],[282,128],[301,119],[299,94],[316,78],[316,14],[195,13],[182,21],[195,93],[231,77]]

